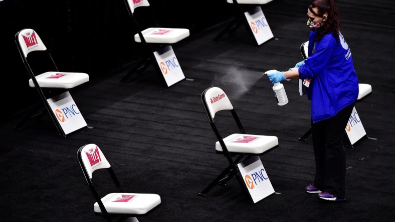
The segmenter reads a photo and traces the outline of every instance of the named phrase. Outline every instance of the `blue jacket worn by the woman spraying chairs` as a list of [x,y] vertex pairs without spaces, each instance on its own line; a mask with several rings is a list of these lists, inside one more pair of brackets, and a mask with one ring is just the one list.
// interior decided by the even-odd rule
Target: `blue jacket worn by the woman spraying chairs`
[[308,57],[299,67],[299,78],[310,79],[307,96],[311,100],[313,122],[336,115],[356,101],[359,93],[351,50],[344,37],[340,33],[336,41],[332,33],[328,33],[315,41],[316,33],[310,31]]

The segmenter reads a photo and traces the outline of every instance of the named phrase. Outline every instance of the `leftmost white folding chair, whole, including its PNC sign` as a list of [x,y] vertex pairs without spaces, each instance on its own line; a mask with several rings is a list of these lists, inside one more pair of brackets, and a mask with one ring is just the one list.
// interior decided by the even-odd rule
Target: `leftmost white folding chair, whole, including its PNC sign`
[[[59,134],[66,136],[72,131],[87,126],[69,89],[89,81],[89,75],[82,72],[59,71],[40,36],[31,28],[19,31],[15,35],[15,41],[30,75],[29,86],[37,89]],[[45,109],[37,112],[42,106],[40,102],[28,109],[26,117],[15,128],[20,129],[29,119],[41,117]]]

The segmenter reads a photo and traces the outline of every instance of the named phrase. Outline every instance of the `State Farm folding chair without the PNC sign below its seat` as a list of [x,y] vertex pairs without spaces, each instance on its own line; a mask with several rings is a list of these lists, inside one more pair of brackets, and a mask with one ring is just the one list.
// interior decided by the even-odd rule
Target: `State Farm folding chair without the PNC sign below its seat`
[[[240,174],[239,163],[251,156],[263,155],[278,147],[277,136],[247,134],[228,95],[219,87],[213,86],[204,90],[202,93],[202,102],[212,129],[218,139],[215,144],[216,152],[226,156],[228,166],[199,194],[206,196],[215,185],[225,184],[236,175],[242,188],[247,191],[247,194],[252,198],[248,191],[248,184],[244,182],[244,177]],[[223,137],[218,128],[218,124],[214,121],[215,117],[216,119],[219,117],[219,115],[216,114],[223,110],[230,111],[236,123],[235,128],[237,125],[240,132]],[[222,114],[226,114],[226,112]],[[224,118],[224,115],[222,115],[221,118]]]

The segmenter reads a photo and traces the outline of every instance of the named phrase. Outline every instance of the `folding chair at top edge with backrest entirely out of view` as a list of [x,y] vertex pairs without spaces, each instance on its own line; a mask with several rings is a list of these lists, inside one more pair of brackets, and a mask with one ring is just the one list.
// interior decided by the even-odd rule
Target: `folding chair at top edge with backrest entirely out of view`
[[214,40],[221,39],[226,33],[233,34],[243,23],[258,46],[273,38],[274,35],[261,8],[261,5],[270,1],[272,0],[227,0],[234,5],[235,16]]

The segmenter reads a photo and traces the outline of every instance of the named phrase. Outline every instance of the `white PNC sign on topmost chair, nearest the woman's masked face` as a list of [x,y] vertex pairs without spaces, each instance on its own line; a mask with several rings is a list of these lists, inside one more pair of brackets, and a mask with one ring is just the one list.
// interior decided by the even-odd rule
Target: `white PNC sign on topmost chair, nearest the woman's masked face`
[[258,45],[274,37],[261,6],[244,12]]

